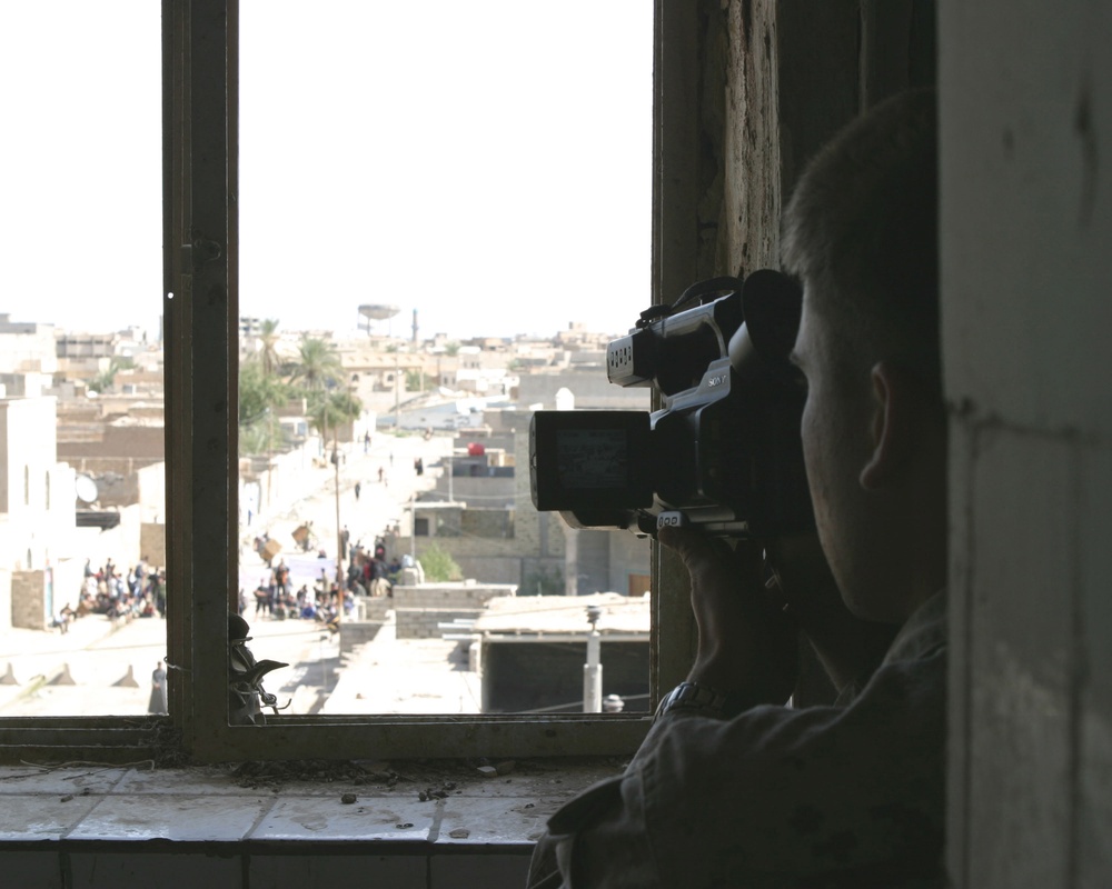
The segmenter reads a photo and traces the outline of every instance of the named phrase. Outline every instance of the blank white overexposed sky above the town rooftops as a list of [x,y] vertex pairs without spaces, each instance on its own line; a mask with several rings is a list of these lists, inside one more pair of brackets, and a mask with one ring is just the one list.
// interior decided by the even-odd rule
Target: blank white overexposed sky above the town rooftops
[[[384,302],[399,334],[414,309],[423,337],[625,332],[651,301],[652,8],[241,0],[241,313],[348,330]],[[0,3],[12,320],[157,333],[158,17]]]

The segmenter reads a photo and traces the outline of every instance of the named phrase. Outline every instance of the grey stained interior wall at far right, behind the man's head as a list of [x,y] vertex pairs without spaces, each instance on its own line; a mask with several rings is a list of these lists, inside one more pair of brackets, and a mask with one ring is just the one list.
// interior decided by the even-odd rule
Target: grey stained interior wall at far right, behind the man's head
[[943,0],[950,870],[1112,875],[1112,4]]

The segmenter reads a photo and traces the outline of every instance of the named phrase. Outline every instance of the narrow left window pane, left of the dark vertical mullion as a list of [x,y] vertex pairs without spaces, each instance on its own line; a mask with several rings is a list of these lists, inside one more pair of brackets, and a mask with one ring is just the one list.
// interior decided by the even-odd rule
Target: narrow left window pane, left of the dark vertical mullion
[[0,8],[0,717],[163,709],[159,16]]

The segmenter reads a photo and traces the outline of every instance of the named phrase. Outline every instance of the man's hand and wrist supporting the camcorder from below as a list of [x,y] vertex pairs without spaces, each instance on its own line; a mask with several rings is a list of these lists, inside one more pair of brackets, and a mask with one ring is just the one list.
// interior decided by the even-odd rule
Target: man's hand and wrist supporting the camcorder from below
[[762,548],[691,529],[664,528],[657,538],[683,559],[692,580],[698,653],[688,679],[757,703],[784,703],[798,669],[794,621],[764,586]]

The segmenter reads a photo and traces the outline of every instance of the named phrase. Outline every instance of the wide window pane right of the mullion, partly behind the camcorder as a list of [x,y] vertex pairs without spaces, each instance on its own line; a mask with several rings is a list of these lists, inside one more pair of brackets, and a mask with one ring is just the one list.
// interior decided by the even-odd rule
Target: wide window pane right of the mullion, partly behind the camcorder
[[648,546],[537,513],[527,456],[536,406],[648,408],[604,357],[651,302],[652,18],[241,3],[241,605],[287,712],[582,710],[592,603],[647,708]]

